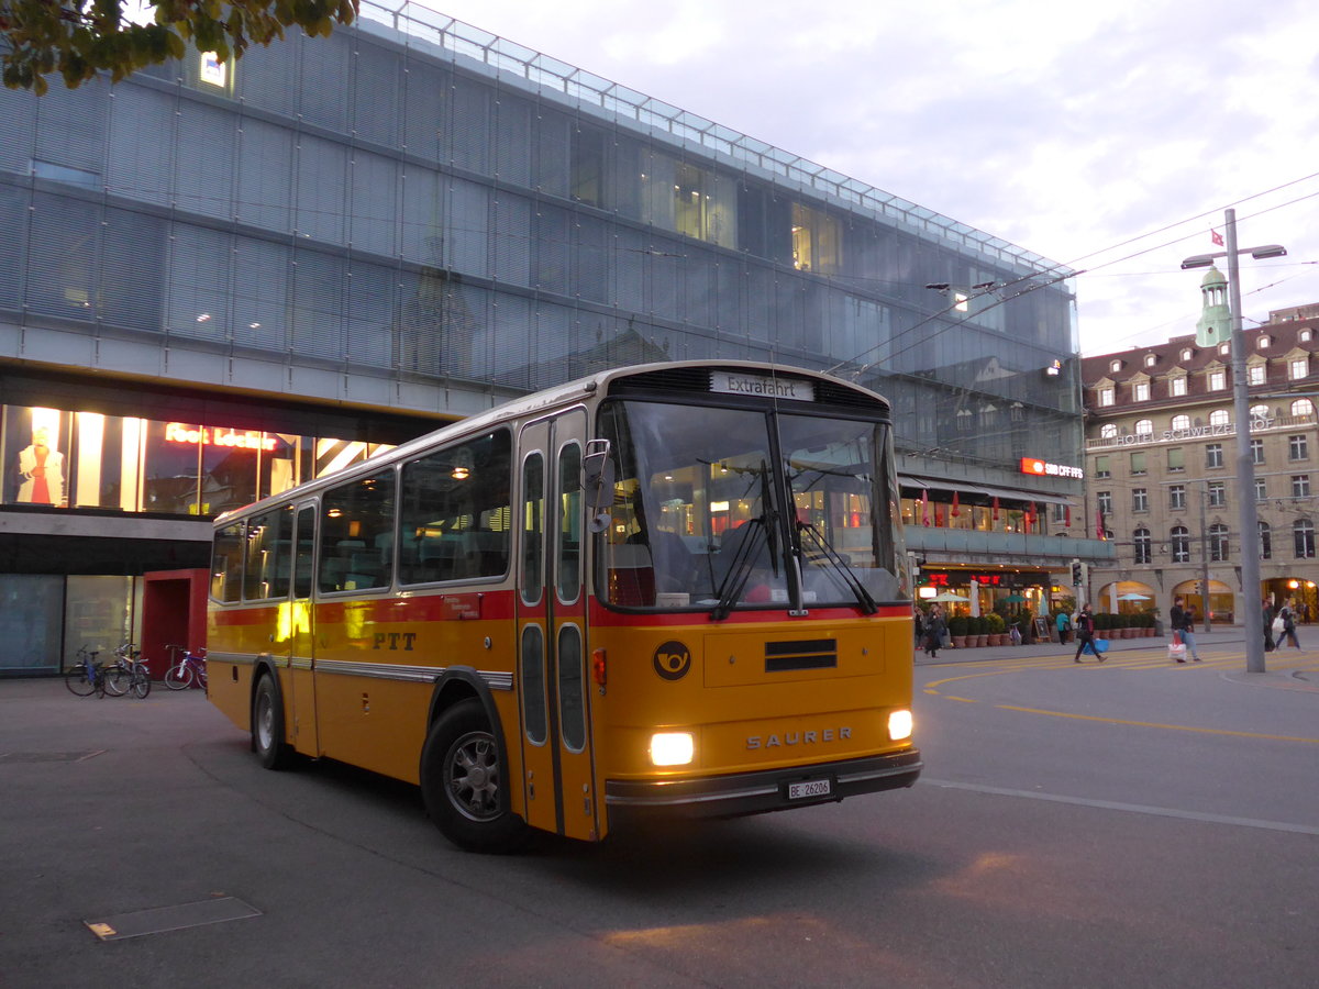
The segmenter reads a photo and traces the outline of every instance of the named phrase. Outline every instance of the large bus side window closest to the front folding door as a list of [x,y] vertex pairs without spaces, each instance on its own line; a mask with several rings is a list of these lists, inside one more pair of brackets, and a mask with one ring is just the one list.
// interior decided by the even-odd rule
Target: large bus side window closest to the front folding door
[[510,446],[501,430],[404,464],[400,583],[508,571]]

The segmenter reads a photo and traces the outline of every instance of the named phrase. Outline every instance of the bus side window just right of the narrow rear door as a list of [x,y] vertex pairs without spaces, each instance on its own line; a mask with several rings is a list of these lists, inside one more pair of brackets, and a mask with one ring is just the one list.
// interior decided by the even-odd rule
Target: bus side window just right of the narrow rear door
[[322,591],[388,587],[393,566],[394,472],[331,488],[321,500]]

